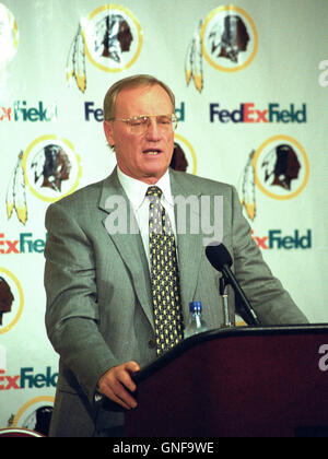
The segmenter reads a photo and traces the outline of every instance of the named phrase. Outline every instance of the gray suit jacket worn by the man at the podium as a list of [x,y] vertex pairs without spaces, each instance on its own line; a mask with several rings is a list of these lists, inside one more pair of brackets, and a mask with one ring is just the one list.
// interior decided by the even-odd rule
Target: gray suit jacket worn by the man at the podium
[[[223,197],[223,244],[261,323],[306,322],[263,262],[235,189],[174,170],[171,185],[173,196]],[[54,436],[92,436],[96,429],[121,424],[118,407],[108,403],[105,410],[94,403],[99,377],[120,363],[134,360],[142,366],[155,358],[148,260],[138,232],[109,234],[106,219],[117,212],[113,197],[128,202],[116,169],[107,179],[51,204],[46,215],[46,327],[60,355]],[[132,212],[128,205],[126,210],[128,226],[133,226]],[[207,260],[204,235],[188,231],[196,216],[191,212],[187,234],[177,236],[184,316],[188,317],[190,301],[201,301],[204,320],[218,328],[220,273]],[[230,308],[233,317],[233,292]]]

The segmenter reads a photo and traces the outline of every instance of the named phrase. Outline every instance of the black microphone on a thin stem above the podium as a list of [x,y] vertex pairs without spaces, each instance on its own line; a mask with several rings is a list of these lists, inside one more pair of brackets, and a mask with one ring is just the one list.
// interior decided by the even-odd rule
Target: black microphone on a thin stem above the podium
[[[222,272],[225,283],[231,284],[233,290],[235,291],[235,294],[241,298],[247,316],[248,323],[259,326],[260,321],[255,310],[250,306],[245,293],[243,292],[243,289],[241,287],[234,273],[230,269],[230,267],[233,263],[233,260],[226,247],[223,244],[211,243],[206,248],[206,255],[212,267],[215,268],[216,271]],[[220,290],[222,290],[222,286],[220,286]]]

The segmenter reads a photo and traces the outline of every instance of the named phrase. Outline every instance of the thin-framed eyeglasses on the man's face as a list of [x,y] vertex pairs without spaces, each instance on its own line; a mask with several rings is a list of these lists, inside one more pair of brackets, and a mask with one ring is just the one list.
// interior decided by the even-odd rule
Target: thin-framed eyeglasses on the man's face
[[157,128],[164,133],[175,130],[177,127],[175,115],[140,115],[131,118],[109,118],[107,121],[122,121],[128,125],[131,133],[143,134],[151,126],[151,118],[156,119]]

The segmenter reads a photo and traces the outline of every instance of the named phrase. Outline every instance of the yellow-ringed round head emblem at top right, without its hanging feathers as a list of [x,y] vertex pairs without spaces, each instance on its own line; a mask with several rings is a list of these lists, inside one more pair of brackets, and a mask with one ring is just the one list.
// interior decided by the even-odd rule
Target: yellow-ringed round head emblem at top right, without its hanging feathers
[[258,35],[253,19],[242,8],[219,7],[202,23],[202,55],[215,69],[236,72],[256,56]]

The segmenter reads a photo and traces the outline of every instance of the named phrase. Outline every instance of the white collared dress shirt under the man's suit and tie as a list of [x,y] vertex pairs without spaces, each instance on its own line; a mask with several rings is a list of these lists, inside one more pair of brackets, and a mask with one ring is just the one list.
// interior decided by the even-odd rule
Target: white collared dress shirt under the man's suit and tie
[[[151,185],[145,184],[144,181],[137,180],[136,178],[129,177],[124,174],[119,167],[117,167],[117,176],[120,185],[122,186],[131,208],[133,209],[134,216],[140,229],[144,251],[147,255],[148,262],[149,259],[149,199],[145,197],[147,190]],[[175,225],[175,215],[174,215],[174,200],[171,192],[171,183],[169,183],[169,173],[168,170],[160,178],[155,184],[156,187],[161,188],[163,195],[161,198],[161,203],[167,212],[172,228],[175,235],[175,243],[177,246],[176,238],[176,225]]]

